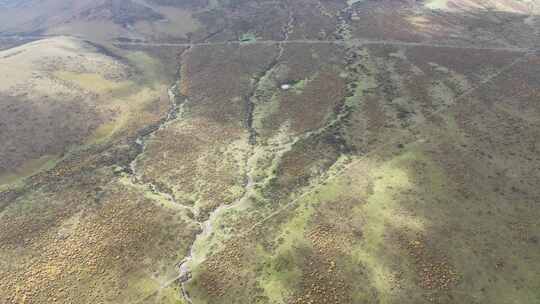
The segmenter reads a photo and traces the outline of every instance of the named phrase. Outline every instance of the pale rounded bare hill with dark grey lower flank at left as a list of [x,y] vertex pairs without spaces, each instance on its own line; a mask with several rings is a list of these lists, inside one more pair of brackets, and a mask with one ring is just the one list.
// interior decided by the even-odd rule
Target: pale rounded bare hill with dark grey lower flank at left
[[2,51],[0,176],[31,173],[102,135],[119,112],[104,97],[125,90],[129,73],[115,58],[69,38]]

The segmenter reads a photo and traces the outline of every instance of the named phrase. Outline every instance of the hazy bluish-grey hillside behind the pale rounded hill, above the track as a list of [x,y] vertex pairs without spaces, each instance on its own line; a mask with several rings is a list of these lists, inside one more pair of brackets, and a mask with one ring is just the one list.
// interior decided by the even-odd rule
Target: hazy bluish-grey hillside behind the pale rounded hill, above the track
[[0,3],[0,34],[113,39],[185,39],[197,5],[132,0],[45,0]]

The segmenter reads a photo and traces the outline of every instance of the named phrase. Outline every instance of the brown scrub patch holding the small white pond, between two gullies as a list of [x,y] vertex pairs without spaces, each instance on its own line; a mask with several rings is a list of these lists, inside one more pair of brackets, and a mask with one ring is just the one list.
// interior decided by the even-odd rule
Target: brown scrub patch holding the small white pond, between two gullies
[[284,126],[290,135],[302,135],[335,119],[346,95],[343,52],[335,45],[283,47],[279,62],[254,95],[261,138],[275,136]]

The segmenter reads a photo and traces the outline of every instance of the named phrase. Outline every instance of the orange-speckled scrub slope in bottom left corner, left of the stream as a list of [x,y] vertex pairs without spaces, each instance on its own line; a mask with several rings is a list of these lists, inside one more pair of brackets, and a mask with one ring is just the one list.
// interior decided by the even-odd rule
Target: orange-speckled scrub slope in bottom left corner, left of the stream
[[[185,254],[196,229],[179,215],[118,185],[105,186],[100,192],[100,196],[86,197],[59,192],[40,202],[21,203],[30,204],[29,214],[37,211],[33,204],[46,205],[50,214],[54,202],[58,216],[48,223],[32,222],[28,217],[18,223],[4,216],[3,223],[18,224],[23,235],[3,229],[3,236],[9,239],[3,239],[2,251],[9,255],[22,250],[24,254],[14,261],[15,269],[4,272],[2,286],[11,292],[0,296],[3,302],[55,298],[66,303],[131,303],[148,292],[132,285],[137,279],[151,282],[151,273],[166,272],[160,267],[170,267]],[[41,234],[27,233],[40,224],[44,228]],[[12,241],[16,239],[15,245]]]

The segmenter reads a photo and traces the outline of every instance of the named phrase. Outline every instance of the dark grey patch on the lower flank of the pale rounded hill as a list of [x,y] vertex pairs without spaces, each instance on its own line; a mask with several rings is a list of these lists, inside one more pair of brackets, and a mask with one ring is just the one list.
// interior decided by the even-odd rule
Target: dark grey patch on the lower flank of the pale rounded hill
[[66,152],[112,116],[85,102],[0,98],[0,174],[14,173],[27,161]]

